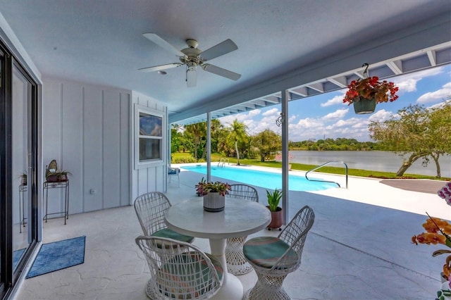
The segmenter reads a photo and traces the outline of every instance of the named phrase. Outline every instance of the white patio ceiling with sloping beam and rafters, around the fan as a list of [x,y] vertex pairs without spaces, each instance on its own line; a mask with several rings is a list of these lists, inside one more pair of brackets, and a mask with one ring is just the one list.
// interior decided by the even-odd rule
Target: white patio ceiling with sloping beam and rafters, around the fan
[[[1,0],[0,13],[42,77],[130,89],[168,106],[170,121],[214,117],[343,87],[362,63],[390,77],[450,63],[450,0]],[[142,37],[178,49],[225,39],[238,49],[209,63],[242,77],[185,68],[167,75],[138,68],[178,62]],[[273,96],[268,96],[273,95]],[[274,97],[275,96],[275,97]],[[247,105],[242,105],[247,102]],[[260,105],[260,106],[259,106]],[[233,109],[223,109],[233,106]],[[190,118],[190,120],[187,120]]]

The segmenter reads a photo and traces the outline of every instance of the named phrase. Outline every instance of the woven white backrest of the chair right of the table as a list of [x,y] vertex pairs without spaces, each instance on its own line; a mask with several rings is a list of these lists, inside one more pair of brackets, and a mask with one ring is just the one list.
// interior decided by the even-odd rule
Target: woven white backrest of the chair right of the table
[[[290,223],[288,223],[278,235],[278,238],[290,245],[290,248],[288,248],[287,251],[285,251],[285,254],[279,258],[273,269],[285,268],[284,266],[286,265],[290,265],[289,269],[291,270],[299,267],[301,264],[305,239],[307,238],[307,233],[309,233],[314,221],[315,213],[310,206],[304,206],[299,209],[295,217],[292,218]],[[295,263],[293,263],[294,260]]]

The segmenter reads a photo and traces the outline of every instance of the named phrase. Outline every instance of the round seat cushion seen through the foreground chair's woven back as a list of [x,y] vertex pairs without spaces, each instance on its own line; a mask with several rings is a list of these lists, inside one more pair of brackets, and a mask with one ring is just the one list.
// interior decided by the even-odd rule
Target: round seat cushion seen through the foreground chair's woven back
[[[219,280],[222,280],[224,270],[221,262],[211,254],[206,256],[214,265]],[[202,258],[199,254],[184,252],[162,265],[156,274],[160,292],[174,299],[192,299],[218,288],[211,280],[211,271],[204,258],[200,264],[190,263],[199,258]]]

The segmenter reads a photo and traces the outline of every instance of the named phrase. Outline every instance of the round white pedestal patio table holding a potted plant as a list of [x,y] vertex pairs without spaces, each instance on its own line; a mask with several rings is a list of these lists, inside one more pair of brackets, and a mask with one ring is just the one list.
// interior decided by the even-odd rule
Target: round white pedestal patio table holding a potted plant
[[204,211],[204,199],[187,200],[171,206],[165,214],[171,230],[192,237],[209,239],[211,254],[223,265],[224,280],[213,299],[242,299],[243,287],[238,278],[227,272],[226,241],[229,237],[243,237],[264,229],[271,222],[266,206],[253,201],[233,201],[226,198],[223,211]]

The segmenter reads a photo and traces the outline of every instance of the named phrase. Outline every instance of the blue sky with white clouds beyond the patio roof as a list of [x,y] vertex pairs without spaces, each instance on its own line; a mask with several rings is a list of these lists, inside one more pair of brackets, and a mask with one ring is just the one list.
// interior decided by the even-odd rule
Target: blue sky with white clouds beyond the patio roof
[[[370,74],[371,76],[371,74]],[[396,115],[409,104],[435,106],[451,96],[451,65],[390,77],[399,87],[399,98],[394,102],[376,105],[371,114],[357,115],[354,108],[342,103],[347,88],[336,92],[319,94],[288,102],[288,139],[292,142],[307,139],[353,138],[359,142],[371,141],[368,124],[371,121],[384,121]],[[246,113],[219,118],[224,126],[237,119],[247,125],[247,133],[254,135],[265,129],[281,135],[276,125],[280,115],[280,104],[254,109]]]

